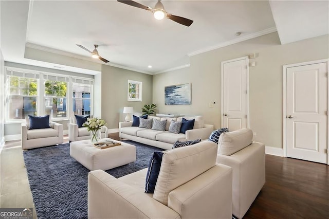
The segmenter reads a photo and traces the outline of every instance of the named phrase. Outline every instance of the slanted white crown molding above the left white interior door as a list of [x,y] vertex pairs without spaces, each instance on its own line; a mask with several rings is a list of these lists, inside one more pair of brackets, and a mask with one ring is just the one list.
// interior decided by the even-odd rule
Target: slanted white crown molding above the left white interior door
[[273,32],[276,32],[276,31],[277,31],[276,27],[271,27],[271,28],[268,28],[268,29],[265,29],[265,30],[262,30],[262,31],[259,31],[259,32],[255,32],[255,33],[251,33],[251,34],[248,34],[248,35],[245,35],[245,36],[241,36],[241,37],[239,37],[237,39],[234,39],[234,40],[226,41],[226,42],[221,43],[221,44],[217,44],[217,45],[210,46],[210,47],[207,47],[207,48],[204,48],[204,49],[200,49],[200,50],[197,50],[197,51],[190,52],[190,53],[188,53],[188,56],[189,57],[195,56],[196,54],[208,52],[208,51],[218,49],[218,48],[222,48],[222,47],[225,47],[225,46],[229,46],[229,45],[232,45],[232,44],[235,44],[235,43],[240,43],[240,42],[250,40],[250,39],[253,39],[253,38],[257,38],[258,36],[266,35],[268,33],[273,33]]

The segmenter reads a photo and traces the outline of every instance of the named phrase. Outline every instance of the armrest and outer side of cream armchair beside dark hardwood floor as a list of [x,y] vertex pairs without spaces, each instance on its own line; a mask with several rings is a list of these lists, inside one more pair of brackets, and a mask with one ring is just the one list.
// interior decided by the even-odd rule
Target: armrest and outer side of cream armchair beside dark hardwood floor
[[233,214],[242,218],[265,184],[265,145],[253,142],[231,156],[217,154],[216,161],[233,169]]

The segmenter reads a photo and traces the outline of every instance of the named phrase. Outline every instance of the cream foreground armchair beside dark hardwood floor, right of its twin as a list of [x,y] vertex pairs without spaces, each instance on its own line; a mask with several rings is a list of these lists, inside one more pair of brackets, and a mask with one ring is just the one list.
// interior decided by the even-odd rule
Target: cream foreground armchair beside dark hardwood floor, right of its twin
[[222,133],[217,162],[233,169],[233,215],[242,218],[265,184],[265,145],[252,141],[252,131]]

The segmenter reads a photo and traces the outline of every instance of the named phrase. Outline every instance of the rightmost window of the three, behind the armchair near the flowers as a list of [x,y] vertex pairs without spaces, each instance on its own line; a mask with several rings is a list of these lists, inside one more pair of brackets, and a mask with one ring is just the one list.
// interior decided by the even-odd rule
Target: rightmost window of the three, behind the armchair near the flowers
[[73,111],[77,115],[90,115],[92,85],[73,83]]

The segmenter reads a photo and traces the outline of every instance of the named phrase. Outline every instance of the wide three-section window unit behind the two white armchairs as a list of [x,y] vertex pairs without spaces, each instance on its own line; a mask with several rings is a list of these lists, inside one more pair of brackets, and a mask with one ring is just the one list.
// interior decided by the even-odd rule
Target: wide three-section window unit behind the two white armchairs
[[93,114],[93,78],[6,67],[5,79],[6,122],[23,122],[27,115],[63,120]]

